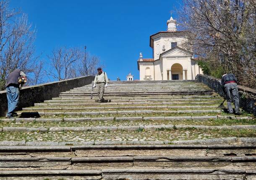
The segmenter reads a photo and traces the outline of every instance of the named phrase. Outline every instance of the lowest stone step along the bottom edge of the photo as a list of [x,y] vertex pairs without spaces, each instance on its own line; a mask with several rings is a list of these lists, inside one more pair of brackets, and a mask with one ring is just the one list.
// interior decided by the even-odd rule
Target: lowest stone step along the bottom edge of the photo
[[253,180],[255,175],[255,170],[241,168],[0,171],[3,180]]

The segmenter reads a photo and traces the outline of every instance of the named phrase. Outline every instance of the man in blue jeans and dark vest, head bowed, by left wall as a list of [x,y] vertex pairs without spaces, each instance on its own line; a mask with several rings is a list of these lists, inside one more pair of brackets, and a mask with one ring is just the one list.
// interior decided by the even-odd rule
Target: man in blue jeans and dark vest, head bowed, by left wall
[[8,112],[6,113],[6,118],[13,118],[16,115],[14,110],[18,106],[19,98],[19,82],[20,77],[26,77],[26,74],[20,69],[16,69],[7,76],[6,80],[6,94],[8,100]]

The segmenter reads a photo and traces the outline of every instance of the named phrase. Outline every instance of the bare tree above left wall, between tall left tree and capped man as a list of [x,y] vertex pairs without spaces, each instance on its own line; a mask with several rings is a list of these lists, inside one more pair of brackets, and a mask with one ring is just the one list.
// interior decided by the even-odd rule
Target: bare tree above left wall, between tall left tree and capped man
[[50,67],[52,71],[47,71],[48,76],[57,80],[64,80],[77,77],[76,64],[81,58],[78,48],[55,48],[50,55]]

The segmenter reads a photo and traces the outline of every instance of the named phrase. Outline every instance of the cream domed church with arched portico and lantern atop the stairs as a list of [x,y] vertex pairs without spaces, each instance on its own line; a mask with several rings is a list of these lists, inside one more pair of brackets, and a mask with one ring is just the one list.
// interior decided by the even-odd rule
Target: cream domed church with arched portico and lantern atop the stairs
[[153,58],[138,59],[140,81],[144,80],[193,80],[202,74],[201,68],[186,47],[188,32],[177,31],[176,20],[167,21],[167,31],[150,36]]

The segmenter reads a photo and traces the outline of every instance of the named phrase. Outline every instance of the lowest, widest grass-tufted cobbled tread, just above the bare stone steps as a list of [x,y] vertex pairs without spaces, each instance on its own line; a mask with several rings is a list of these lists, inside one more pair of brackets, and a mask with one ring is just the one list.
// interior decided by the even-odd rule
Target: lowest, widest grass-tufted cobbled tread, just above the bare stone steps
[[134,131],[60,131],[60,132],[0,132],[0,141],[173,141],[211,139],[219,137],[256,137],[256,130],[222,130],[196,128],[161,128],[156,131],[137,129]]

